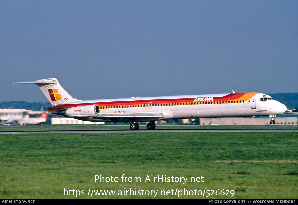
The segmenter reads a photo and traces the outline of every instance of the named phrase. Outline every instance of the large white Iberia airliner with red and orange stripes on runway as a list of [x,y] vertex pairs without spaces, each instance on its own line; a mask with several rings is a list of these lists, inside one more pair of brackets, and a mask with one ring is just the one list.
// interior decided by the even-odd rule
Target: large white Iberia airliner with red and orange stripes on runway
[[263,93],[200,94],[164,97],[135,97],[107,100],[78,100],[69,95],[56,78],[11,84],[36,84],[51,102],[51,114],[91,122],[148,122],[147,129],[156,128],[155,121],[164,119],[269,116],[270,124],[286,106]]

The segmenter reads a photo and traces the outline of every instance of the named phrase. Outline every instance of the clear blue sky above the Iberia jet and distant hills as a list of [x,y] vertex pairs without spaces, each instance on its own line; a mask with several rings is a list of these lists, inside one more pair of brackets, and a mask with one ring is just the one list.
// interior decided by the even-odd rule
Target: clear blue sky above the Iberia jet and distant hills
[[0,1],[0,102],[298,92],[298,1]]

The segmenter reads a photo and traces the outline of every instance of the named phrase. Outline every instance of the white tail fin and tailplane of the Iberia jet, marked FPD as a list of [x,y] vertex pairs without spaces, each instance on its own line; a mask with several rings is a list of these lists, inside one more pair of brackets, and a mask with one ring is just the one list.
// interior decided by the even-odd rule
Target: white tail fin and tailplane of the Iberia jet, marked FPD
[[33,82],[20,82],[11,84],[36,84],[39,86],[44,95],[48,98],[53,106],[61,105],[69,102],[80,101],[73,98],[68,94],[64,88],[62,88],[56,78],[47,78],[42,80],[36,80]]

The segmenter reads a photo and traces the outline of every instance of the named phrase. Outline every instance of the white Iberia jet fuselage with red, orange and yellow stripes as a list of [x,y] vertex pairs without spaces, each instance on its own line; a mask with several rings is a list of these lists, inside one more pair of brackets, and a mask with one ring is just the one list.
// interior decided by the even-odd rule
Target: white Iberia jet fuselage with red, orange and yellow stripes
[[[264,100],[264,96],[266,97]],[[260,99],[263,98],[263,101]],[[208,94],[166,97],[138,97],[109,100],[83,100],[66,103],[48,109],[49,113],[75,106],[99,105],[99,115],[161,114],[160,117],[136,119],[135,122],[177,118],[248,117],[277,115],[286,111],[286,106],[262,93]],[[59,109],[57,109],[59,108]],[[81,119],[81,117],[73,117]],[[86,121],[112,122],[115,119],[89,117]],[[118,121],[118,120],[117,120]]]

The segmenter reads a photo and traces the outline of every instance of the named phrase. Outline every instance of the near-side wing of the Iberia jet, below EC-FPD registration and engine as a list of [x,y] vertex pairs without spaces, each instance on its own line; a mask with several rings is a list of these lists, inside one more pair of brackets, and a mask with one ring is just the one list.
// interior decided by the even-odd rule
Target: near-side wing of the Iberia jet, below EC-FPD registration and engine
[[162,113],[98,114],[98,115],[63,115],[75,119],[93,122],[145,122],[164,118]]

